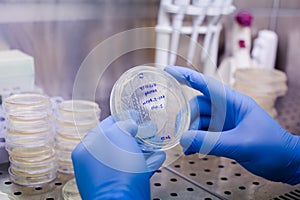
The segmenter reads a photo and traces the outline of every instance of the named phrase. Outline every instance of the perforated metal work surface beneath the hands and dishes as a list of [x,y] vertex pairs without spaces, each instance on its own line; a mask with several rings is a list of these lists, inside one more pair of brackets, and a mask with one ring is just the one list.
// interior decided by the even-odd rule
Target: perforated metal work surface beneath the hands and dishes
[[[276,102],[277,121],[292,133],[300,133],[300,88],[289,87]],[[57,178],[41,187],[15,185],[7,173],[8,163],[0,165],[0,188],[17,199],[60,200],[62,187],[73,178],[58,173]],[[300,199],[300,186],[267,181],[252,175],[227,158],[184,156],[179,146],[167,151],[167,159],[151,178],[151,199]]]

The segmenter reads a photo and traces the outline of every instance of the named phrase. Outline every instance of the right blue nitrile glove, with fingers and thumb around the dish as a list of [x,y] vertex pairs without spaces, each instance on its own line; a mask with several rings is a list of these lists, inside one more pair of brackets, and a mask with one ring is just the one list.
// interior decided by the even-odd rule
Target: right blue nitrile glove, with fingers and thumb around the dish
[[165,71],[203,93],[191,100],[190,130],[180,141],[185,154],[224,156],[268,180],[300,182],[299,136],[284,130],[250,97],[213,78],[183,67]]

